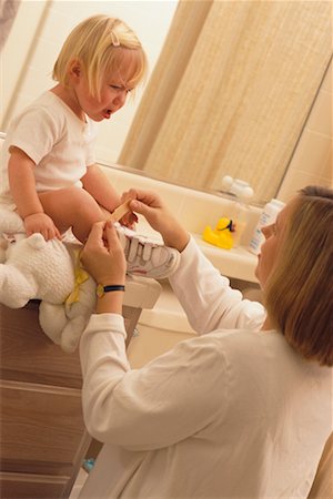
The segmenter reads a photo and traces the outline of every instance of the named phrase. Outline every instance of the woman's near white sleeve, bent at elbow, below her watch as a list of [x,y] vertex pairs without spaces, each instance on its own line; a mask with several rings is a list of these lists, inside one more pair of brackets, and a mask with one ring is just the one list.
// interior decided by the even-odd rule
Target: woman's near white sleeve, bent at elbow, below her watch
[[223,416],[226,361],[211,335],[181,342],[139,370],[130,369],[124,337],[123,319],[115,314],[92,315],[82,335],[82,404],[90,435],[150,450],[173,445]]

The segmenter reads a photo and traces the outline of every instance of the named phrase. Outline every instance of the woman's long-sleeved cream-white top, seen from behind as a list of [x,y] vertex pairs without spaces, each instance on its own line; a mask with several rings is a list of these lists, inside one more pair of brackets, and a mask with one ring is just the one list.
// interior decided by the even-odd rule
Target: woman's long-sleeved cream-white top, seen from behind
[[83,411],[104,442],[81,499],[305,498],[332,430],[332,369],[261,332],[243,301],[191,241],[171,284],[186,339],[131,370],[115,314],[81,339]]

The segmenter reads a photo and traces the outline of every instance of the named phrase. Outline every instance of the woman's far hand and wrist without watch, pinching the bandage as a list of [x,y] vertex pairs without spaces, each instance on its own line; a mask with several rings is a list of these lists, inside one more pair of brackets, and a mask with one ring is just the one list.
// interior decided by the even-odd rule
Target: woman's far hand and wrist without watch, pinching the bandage
[[179,252],[185,248],[190,240],[189,233],[157,194],[151,191],[131,189],[123,194],[123,197],[133,200],[130,203],[131,210],[147,218],[149,224],[162,235],[167,246],[175,247]]

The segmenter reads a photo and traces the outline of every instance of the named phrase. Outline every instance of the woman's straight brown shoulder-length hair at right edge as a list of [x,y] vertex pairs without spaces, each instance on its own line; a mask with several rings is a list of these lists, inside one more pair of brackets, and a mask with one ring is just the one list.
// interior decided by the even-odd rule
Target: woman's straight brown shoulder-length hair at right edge
[[333,365],[333,191],[300,191],[265,287],[270,318],[303,357]]

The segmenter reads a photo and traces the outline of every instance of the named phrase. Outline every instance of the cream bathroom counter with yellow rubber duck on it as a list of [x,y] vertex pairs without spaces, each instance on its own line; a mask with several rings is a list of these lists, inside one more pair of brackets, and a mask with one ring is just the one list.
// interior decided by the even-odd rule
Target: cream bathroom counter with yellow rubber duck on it
[[[193,234],[196,243],[204,255],[221,272],[221,274],[258,284],[254,275],[256,256],[250,253],[246,247],[235,249],[222,249],[205,243],[201,238],[202,231],[206,225],[215,226],[222,214],[234,212],[234,202],[216,193],[195,191],[190,187],[170,184],[147,175],[141,175],[133,169],[121,165],[103,166],[107,176],[118,192],[125,192],[130,187],[149,190],[158,193],[170,212],[180,220],[182,225]],[[250,241],[253,230],[258,223],[261,208],[249,206],[248,224],[243,234],[243,241]],[[139,216],[138,233],[159,240],[159,234],[154,232],[142,216]]]

